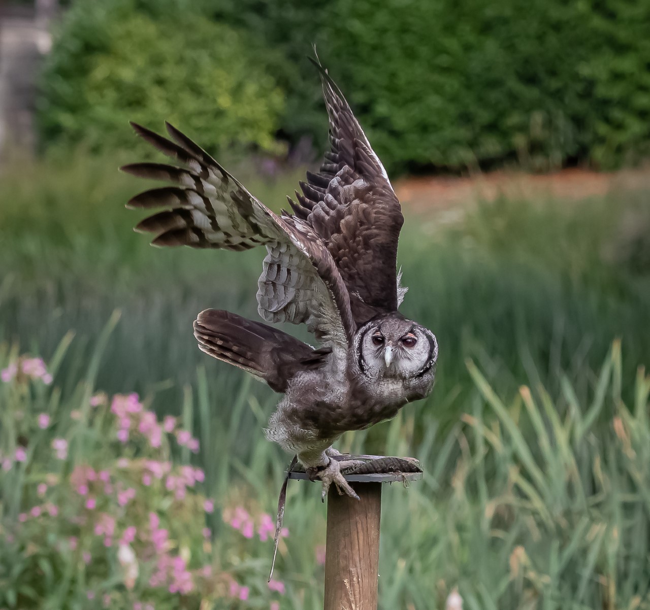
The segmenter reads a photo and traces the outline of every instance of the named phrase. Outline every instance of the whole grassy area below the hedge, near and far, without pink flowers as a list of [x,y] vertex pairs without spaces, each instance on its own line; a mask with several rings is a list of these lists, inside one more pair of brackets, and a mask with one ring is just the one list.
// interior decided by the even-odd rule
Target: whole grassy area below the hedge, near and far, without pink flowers
[[[251,515],[273,513],[288,456],[261,431],[276,396],[204,357],[191,333],[206,307],[256,317],[262,253],[149,247],[131,231],[138,215],[123,208],[144,188],[116,172],[124,161],[79,155],[8,168],[1,178],[0,365],[19,353],[40,355],[54,377],[47,387],[0,384],[4,429],[16,429],[25,414],[36,421],[45,409],[58,426],[29,441],[27,461],[14,464],[22,470],[0,471],[5,532],[29,508],[34,486],[60,468],[49,450],[56,435],[70,440],[57,485],[75,464],[97,469],[144,455],[140,446],[100,442],[99,432],[114,435],[116,424],[108,414],[86,415],[93,392],[135,391],[160,417],[181,417],[201,441],[196,456],[170,442],[166,457],[177,464],[191,458],[205,472],[196,494],[216,502],[206,516],[212,565],[250,595],[238,601],[226,591],[213,607],[266,608],[278,600],[282,608],[318,607],[315,552],[324,543],[325,511],[315,487],[290,487],[291,535],[276,575],[286,592],[278,600],[265,585],[270,543],[223,523],[224,511],[227,518],[238,505]],[[298,177],[265,181],[252,168],[239,175],[276,209]],[[640,368],[650,362],[647,195],[619,192],[571,205],[503,199],[453,225],[405,210],[399,262],[410,291],[403,311],[438,337],[436,387],[393,422],[341,442],[343,449],[413,455],[426,468],[410,489],[385,489],[383,609],[432,607],[431,600],[442,607],[454,586],[476,610],[650,607],[649,381]],[[92,422],[83,429],[96,431],[94,442],[74,442],[75,411]],[[3,432],[0,452],[15,450],[15,438]],[[162,491],[155,498],[153,510],[162,514],[168,500]],[[142,513],[154,500],[138,502]],[[204,552],[200,540],[178,536],[179,553]],[[26,555],[18,542],[7,548],[0,570]],[[125,588],[112,552],[99,566],[72,557],[79,572],[71,581],[83,585],[59,592],[47,607],[95,607],[86,585],[114,594],[114,607],[137,600],[196,607],[198,598],[164,596],[142,578]],[[22,598],[0,596],[0,606],[38,607],[29,587]]]

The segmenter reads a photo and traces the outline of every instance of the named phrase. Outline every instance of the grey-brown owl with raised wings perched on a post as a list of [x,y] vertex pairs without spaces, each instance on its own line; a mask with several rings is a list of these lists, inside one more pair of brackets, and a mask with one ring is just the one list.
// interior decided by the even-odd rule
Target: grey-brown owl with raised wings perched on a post
[[[136,227],[155,246],[246,250],[263,246],[257,304],[265,322],[305,324],[317,348],[262,322],[206,309],[194,337],[208,355],[283,394],[265,430],[295,453],[312,480],[356,498],[344,472],[357,465],[333,443],[395,416],[427,396],[438,355],[434,334],[398,307],[406,288],[396,268],[400,203],[341,90],[314,60],[330,121],[330,150],[307,172],[291,212],[275,214],[216,160],[166,123],[168,137],[132,123],[177,163],[135,163],[124,172],[173,186],[127,203],[160,209]],[[337,459],[338,458],[338,459]]]

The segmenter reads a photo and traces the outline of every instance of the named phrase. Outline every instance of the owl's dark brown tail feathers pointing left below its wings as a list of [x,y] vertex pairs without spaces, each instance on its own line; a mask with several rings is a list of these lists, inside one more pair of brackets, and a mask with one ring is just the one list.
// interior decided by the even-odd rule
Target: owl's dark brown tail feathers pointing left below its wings
[[276,392],[286,392],[297,372],[318,368],[329,353],[272,326],[217,309],[201,311],[194,337],[201,351],[248,371]]

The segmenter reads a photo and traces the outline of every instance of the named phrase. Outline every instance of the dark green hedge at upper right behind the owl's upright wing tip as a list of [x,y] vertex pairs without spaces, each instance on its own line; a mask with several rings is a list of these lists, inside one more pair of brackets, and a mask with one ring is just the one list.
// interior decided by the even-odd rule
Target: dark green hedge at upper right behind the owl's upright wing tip
[[[218,16],[283,49],[283,128],[320,144],[324,64],[396,170],[610,168],[650,151],[650,5],[625,0],[215,0]],[[287,34],[287,32],[290,32]],[[280,76],[286,78],[284,74]]]

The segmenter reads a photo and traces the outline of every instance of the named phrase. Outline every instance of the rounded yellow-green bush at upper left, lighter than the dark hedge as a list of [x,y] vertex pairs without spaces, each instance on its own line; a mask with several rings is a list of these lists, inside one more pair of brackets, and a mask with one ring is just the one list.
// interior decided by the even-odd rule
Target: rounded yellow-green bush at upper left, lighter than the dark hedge
[[129,120],[154,127],[168,120],[201,133],[211,151],[277,152],[283,93],[263,54],[230,27],[166,4],[166,11],[129,0],[73,6],[42,79],[44,141],[133,149]]

